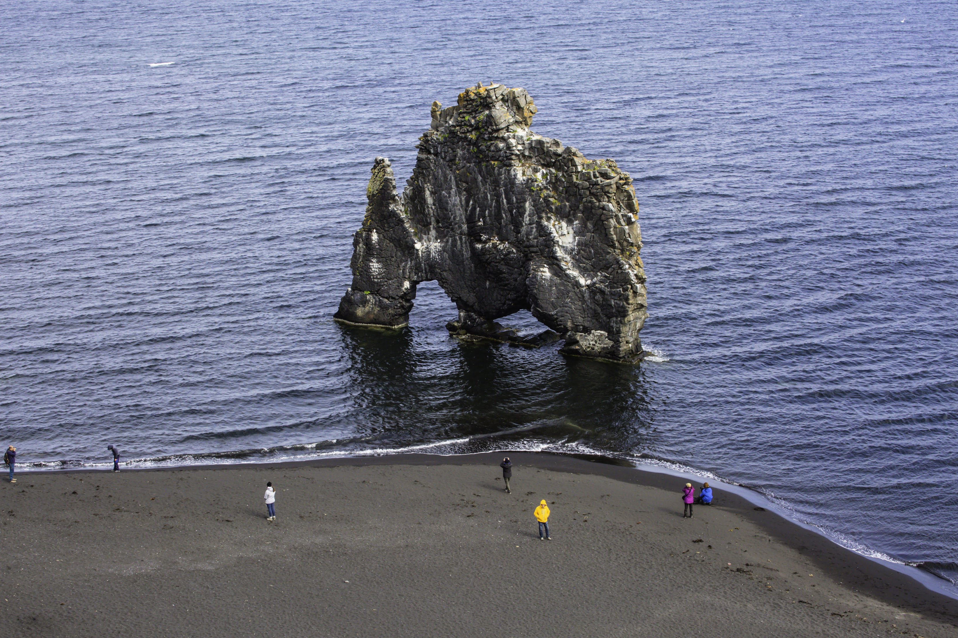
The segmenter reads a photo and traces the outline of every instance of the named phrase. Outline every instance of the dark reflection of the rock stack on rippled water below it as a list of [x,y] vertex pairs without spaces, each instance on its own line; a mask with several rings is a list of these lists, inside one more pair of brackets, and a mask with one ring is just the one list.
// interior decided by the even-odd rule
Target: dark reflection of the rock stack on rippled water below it
[[516,428],[521,433],[476,446],[531,437],[603,449],[649,444],[650,380],[641,366],[560,357],[557,346],[458,341],[415,318],[398,331],[341,326],[341,333],[354,390],[345,417],[357,436],[376,435],[377,447]]

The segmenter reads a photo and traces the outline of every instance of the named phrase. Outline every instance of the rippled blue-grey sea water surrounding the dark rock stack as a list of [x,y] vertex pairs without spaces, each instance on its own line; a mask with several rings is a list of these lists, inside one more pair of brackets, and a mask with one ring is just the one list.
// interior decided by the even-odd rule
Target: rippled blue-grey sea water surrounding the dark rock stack
[[[958,5],[0,7],[0,438],[35,467],[585,451],[958,579]],[[348,329],[376,155],[525,87],[635,179],[655,353]],[[520,313],[504,321],[534,331]],[[318,444],[318,446],[317,446]],[[106,453],[104,453],[106,452]]]

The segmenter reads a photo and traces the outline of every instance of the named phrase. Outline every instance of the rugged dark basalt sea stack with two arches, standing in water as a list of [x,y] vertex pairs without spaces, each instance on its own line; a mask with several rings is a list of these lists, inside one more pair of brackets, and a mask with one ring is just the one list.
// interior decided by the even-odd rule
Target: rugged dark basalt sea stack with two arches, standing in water
[[[421,281],[459,308],[449,331],[620,362],[642,358],[646,277],[632,180],[529,130],[524,89],[477,84],[432,125],[405,191],[376,158],[356,231],[353,286],[335,319],[401,327]],[[495,319],[522,309],[555,331],[522,340]],[[558,333],[558,335],[556,334]]]

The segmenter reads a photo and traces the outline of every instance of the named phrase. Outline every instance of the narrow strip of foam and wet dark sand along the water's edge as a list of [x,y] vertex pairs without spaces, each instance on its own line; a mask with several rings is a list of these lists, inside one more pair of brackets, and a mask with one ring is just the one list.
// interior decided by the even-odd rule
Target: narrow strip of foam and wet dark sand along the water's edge
[[[626,483],[658,489],[673,490],[676,479],[701,481],[694,472],[680,472],[670,468],[649,465],[643,468],[625,459],[602,454],[563,453],[557,451],[489,451],[460,454],[434,454],[428,452],[399,451],[395,453],[334,456],[282,461],[239,461],[232,463],[164,466],[153,468],[127,468],[123,472],[182,472],[219,471],[228,469],[264,469],[297,467],[367,467],[367,466],[438,466],[438,465],[486,465],[495,457],[509,454],[513,461],[556,472],[590,473]],[[104,463],[104,466],[109,463]],[[651,468],[654,468],[651,469]],[[98,468],[64,468],[23,471],[23,474],[44,473],[103,473]],[[21,472],[17,472],[20,475]],[[872,595],[890,605],[903,605],[920,612],[936,611],[958,618],[958,592],[950,593],[951,585],[929,571],[906,563],[886,561],[869,557],[845,547],[829,538],[814,526],[803,523],[769,501],[760,492],[744,485],[727,483],[720,478],[710,479],[713,487],[722,495],[721,505],[730,511],[758,524],[774,538],[787,546],[808,552],[811,557],[845,583],[853,583],[855,591]],[[758,512],[758,507],[764,511]],[[769,507],[770,506],[770,507]],[[838,569],[835,565],[840,565]],[[914,586],[918,591],[910,591]]]

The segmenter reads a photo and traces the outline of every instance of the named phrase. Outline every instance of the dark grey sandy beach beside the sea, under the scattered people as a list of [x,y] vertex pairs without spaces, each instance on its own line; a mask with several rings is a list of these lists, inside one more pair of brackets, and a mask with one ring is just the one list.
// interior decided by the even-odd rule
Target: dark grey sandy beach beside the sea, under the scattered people
[[511,457],[512,495],[501,454],[19,473],[0,636],[958,635],[955,601],[736,495],[683,519],[681,479]]

